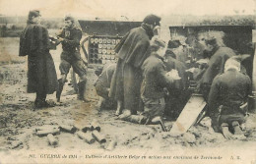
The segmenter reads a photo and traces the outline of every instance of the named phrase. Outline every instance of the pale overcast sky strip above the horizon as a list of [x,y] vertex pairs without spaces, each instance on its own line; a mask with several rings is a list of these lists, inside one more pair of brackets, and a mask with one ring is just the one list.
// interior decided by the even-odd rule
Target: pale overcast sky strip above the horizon
[[[0,14],[27,16],[38,9],[43,17],[119,18],[140,20],[149,13],[167,15],[253,15],[256,0],[0,0]],[[235,13],[236,12],[236,13]]]

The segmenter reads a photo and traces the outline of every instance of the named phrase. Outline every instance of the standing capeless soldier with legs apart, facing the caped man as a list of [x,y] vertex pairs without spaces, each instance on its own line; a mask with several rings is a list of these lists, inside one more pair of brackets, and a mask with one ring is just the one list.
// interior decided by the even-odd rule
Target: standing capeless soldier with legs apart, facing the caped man
[[71,16],[65,17],[65,27],[57,35],[62,43],[62,53],[60,55],[61,63],[59,66],[61,79],[58,80],[59,88],[56,92],[57,101],[60,101],[60,95],[66,82],[67,75],[72,67],[74,72],[79,75],[80,82],[78,83],[78,99],[86,100],[84,92],[87,82],[87,68],[80,54],[80,40],[82,38],[82,30],[76,27],[75,20]]

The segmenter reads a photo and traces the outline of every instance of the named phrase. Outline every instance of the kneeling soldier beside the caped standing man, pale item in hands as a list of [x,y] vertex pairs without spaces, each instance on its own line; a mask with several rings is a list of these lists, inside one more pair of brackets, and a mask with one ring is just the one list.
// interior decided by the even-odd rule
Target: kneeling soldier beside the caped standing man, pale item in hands
[[161,117],[165,107],[164,87],[173,82],[167,76],[163,64],[165,43],[157,37],[151,41],[151,55],[142,65],[143,82],[141,97],[144,102],[144,112],[141,115],[131,115],[127,111],[126,117],[121,118],[139,124],[151,124],[153,119]]

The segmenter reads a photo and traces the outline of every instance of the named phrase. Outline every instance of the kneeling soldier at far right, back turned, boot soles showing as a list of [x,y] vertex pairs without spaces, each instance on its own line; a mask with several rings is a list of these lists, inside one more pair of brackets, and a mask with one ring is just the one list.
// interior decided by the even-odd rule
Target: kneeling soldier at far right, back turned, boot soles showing
[[[245,122],[251,80],[240,73],[240,56],[229,58],[224,73],[218,75],[211,86],[208,105],[215,131],[221,131],[225,138],[244,137],[240,125]],[[229,132],[232,129],[234,136]]]

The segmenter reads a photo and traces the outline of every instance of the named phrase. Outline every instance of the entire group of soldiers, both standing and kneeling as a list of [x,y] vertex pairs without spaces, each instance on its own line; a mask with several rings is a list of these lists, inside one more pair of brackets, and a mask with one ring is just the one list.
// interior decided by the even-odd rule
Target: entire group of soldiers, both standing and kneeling
[[[21,35],[20,56],[28,55],[28,92],[35,92],[34,106],[47,107],[46,94],[56,91],[57,101],[67,82],[70,68],[80,76],[79,99],[85,100],[87,69],[79,53],[82,31],[74,18],[65,18],[65,27],[50,41],[47,29],[39,25],[39,12],[31,11],[28,26]],[[96,70],[99,95],[97,108],[116,108],[115,115],[138,124],[153,124],[165,115],[177,117],[191,92],[190,81],[203,94],[212,126],[226,138],[242,136],[251,80],[241,66],[247,55],[225,47],[221,38],[198,35],[194,39],[169,40],[159,35],[160,17],[147,16],[141,27],[128,31],[116,45],[117,64],[105,64]],[[49,54],[52,44],[62,44],[61,78],[57,80]],[[202,48],[196,61],[187,60],[184,47]],[[189,116],[188,116],[189,117]],[[157,119],[157,120],[159,120]]]

